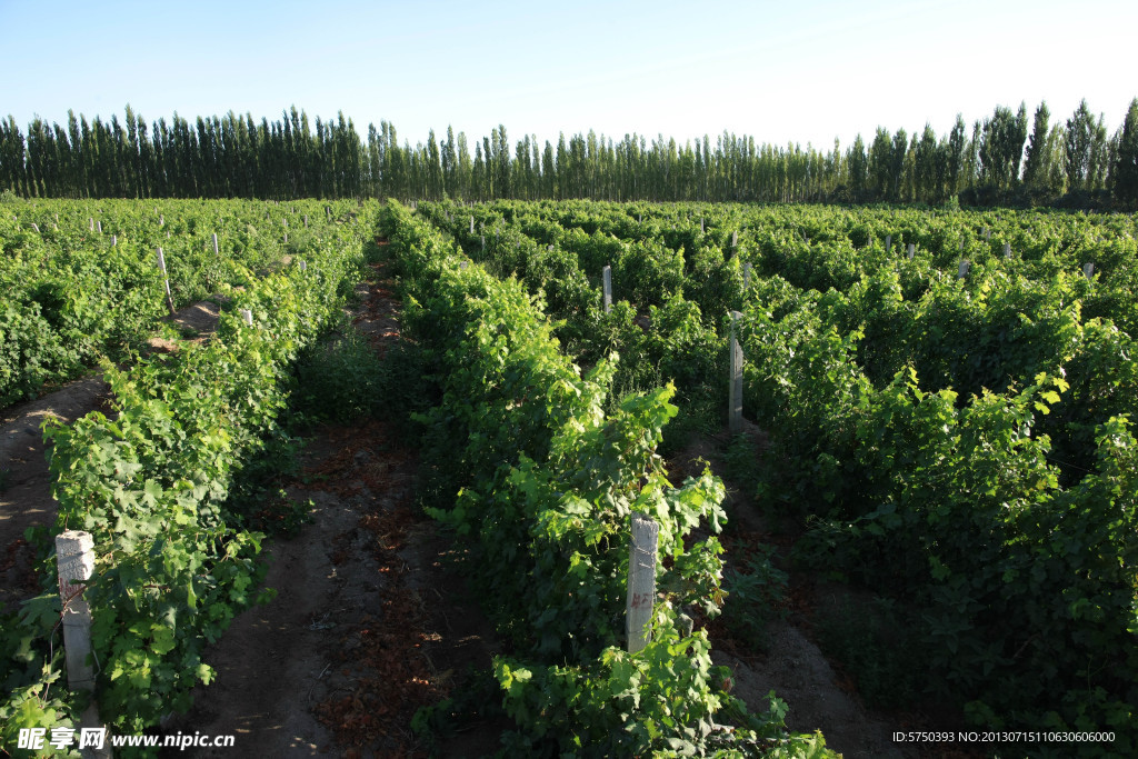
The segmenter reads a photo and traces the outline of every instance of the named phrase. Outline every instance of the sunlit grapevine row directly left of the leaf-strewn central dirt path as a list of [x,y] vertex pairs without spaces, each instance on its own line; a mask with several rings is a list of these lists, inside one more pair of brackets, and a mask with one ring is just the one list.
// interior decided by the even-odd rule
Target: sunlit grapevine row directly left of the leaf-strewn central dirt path
[[[370,212],[369,212],[370,213]],[[340,317],[363,261],[366,218],[330,229],[275,272],[231,264],[229,303],[207,345],[184,343],[129,369],[104,363],[109,415],[51,424],[56,531],[92,534],[97,552],[85,600],[93,617],[100,716],[139,733],[189,706],[208,683],[201,661],[233,616],[263,597],[255,561],[262,535],[228,502],[234,477],[280,436],[291,362]],[[240,315],[251,314],[251,324]],[[53,562],[52,562],[53,563]],[[56,622],[53,567],[44,595],[0,622],[0,746],[19,727],[72,725],[82,698],[67,693]]]

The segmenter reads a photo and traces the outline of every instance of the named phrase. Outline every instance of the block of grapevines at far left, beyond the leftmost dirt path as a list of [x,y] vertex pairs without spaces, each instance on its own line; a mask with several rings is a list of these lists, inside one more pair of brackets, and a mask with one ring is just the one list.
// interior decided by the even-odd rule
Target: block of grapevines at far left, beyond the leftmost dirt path
[[174,307],[182,307],[239,281],[242,266],[279,265],[330,236],[333,217],[355,204],[335,207],[316,201],[287,207],[189,200],[3,204],[0,407],[73,379],[100,356],[122,361],[140,348],[166,310],[158,248]]

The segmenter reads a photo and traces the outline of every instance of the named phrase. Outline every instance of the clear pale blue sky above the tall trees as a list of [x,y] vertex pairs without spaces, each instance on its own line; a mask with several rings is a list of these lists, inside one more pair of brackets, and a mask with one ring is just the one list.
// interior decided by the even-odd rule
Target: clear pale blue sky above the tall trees
[[843,148],[947,132],[997,105],[1086,98],[1111,133],[1138,96],[1138,2],[261,2],[0,0],[0,116],[148,122],[246,112],[386,119],[401,141],[504,124],[683,142],[724,130]]

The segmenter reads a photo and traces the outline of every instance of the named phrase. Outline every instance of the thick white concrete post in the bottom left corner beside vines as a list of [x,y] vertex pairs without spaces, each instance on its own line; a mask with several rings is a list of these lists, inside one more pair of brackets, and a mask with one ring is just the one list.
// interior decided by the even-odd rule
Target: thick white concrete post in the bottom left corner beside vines
[[[59,576],[59,600],[63,602],[64,654],[67,661],[67,687],[94,692],[94,668],[91,658],[91,607],[83,599],[83,583],[94,574],[94,539],[90,533],[66,530],[56,536],[56,568]],[[91,699],[80,716],[80,725],[100,728],[99,706]],[[84,757],[110,757],[110,746],[83,751]]]

